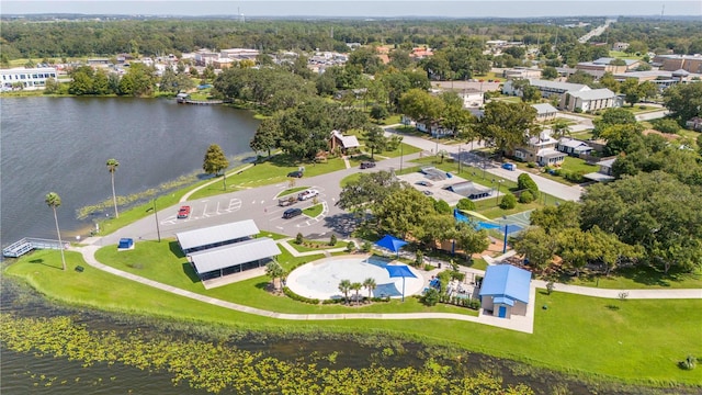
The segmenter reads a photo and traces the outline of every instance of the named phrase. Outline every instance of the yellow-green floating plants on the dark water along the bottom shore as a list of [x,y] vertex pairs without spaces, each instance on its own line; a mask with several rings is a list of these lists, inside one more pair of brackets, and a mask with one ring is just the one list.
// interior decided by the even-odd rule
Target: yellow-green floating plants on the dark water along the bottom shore
[[[149,372],[172,374],[174,385],[189,385],[212,393],[245,394],[533,394],[528,386],[502,385],[500,379],[478,373],[466,376],[429,358],[421,368],[363,369],[322,366],[336,353],[282,361],[223,342],[174,338],[139,330],[89,330],[70,317],[27,318],[0,315],[2,347],[37,357],[67,358],[82,362],[124,364]],[[46,385],[54,381],[41,380]],[[48,384],[50,385],[50,384]]]

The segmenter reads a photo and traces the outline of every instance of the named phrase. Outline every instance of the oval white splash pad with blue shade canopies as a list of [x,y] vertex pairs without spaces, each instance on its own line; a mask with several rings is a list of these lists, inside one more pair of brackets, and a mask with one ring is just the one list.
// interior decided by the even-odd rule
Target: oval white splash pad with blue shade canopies
[[[376,284],[373,296],[401,297],[403,279],[390,279],[385,269],[387,264],[392,263],[387,260],[366,256],[325,258],[293,270],[287,275],[286,285],[298,295],[328,300],[343,297],[343,294],[339,291],[339,283],[342,280],[363,283],[365,279],[373,278]],[[409,269],[417,278],[405,278],[405,296],[419,293],[424,287],[423,275],[414,268]],[[349,293],[349,295],[354,294],[355,291]],[[362,289],[360,294],[367,296],[369,291]]]

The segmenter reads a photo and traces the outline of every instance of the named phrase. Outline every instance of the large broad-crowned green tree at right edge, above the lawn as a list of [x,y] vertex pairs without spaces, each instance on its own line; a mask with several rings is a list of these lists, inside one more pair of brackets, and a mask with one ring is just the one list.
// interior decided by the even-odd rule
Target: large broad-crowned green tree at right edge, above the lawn
[[661,171],[596,184],[581,198],[581,226],[641,246],[645,261],[665,273],[695,270],[702,267],[702,195],[695,191]]

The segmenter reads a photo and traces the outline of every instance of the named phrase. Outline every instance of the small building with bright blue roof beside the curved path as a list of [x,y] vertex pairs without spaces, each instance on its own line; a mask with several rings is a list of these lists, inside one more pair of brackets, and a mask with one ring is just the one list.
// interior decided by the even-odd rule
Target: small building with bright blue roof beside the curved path
[[489,266],[480,286],[483,309],[500,318],[526,315],[531,272],[511,264]]

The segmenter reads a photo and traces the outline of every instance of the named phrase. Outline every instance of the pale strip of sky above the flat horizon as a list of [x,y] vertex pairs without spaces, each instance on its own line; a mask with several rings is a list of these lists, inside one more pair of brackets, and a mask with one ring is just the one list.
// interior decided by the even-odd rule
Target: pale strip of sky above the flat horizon
[[532,18],[532,16],[620,16],[700,15],[701,0],[1,0],[1,14],[82,13],[154,15],[234,15],[245,16],[450,16],[450,18]]

